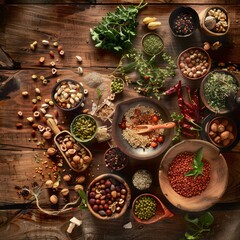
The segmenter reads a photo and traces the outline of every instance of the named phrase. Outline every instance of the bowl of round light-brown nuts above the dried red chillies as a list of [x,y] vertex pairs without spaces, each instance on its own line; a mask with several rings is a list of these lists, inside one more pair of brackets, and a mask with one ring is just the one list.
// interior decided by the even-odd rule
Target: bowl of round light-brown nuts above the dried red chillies
[[[188,62],[191,59],[191,57],[195,56],[196,54],[201,54],[202,56],[204,56],[204,58],[206,58],[203,60],[203,61],[206,61],[204,64],[207,64],[207,66],[205,66],[204,69],[197,70],[198,67],[201,67],[200,65],[198,65],[197,63],[192,64],[191,62],[190,63]],[[179,71],[185,78],[189,80],[199,80],[204,78],[209,73],[211,68],[211,62],[212,61],[208,52],[205,51],[203,48],[191,47],[191,48],[185,49],[179,54],[177,59],[177,66]],[[200,71],[201,74],[197,75],[198,71]],[[194,75],[190,76],[190,72],[193,74],[196,74],[197,76],[194,76]]]

